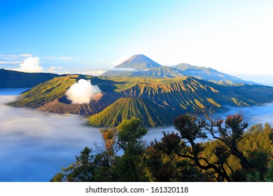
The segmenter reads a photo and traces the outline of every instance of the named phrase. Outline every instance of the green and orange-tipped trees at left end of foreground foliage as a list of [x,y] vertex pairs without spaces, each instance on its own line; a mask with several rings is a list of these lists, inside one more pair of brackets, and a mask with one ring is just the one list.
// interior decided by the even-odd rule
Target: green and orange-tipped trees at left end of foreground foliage
[[[123,120],[116,129],[100,130],[104,150],[93,154],[85,147],[76,162],[62,169],[51,181],[147,181],[142,165],[145,152],[142,137],[147,129],[139,118]],[[123,149],[123,155],[116,155]]]

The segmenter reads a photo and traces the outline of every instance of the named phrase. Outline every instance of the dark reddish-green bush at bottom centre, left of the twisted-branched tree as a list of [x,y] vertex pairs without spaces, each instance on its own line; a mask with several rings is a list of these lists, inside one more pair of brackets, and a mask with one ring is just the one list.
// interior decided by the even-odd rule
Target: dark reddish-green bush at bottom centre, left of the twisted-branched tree
[[178,133],[163,132],[161,141],[152,141],[146,149],[145,164],[151,181],[208,181],[192,162],[180,158],[187,148]]

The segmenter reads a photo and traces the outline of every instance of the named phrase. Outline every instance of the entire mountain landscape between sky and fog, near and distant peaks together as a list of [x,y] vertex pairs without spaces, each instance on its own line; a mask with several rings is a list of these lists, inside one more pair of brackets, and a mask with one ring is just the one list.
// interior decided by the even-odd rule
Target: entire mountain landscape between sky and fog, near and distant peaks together
[[[72,104],[66,91],[80,79],[91,80],[101,92],[87,104]],[[273,101],[273,87],[190,64],[162,66],[144,55],[134,55],[97,77],[0,69],[0,87],[32,87],[12,106],[85,115],[98,127],[116,126],[133,116],[145,126],[159,127],[172,125],[181,113]]]

